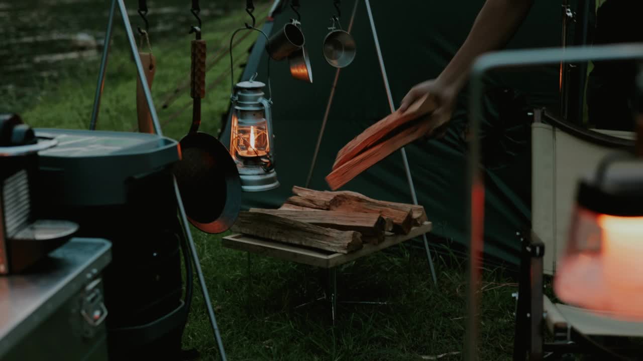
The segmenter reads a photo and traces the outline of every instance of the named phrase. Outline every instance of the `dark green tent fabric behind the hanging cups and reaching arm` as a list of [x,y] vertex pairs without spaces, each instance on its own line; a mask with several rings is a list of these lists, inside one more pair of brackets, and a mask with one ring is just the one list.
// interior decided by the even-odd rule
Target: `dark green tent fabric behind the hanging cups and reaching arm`
[[[341,69],[328,123],[323,134],[310,188],[328,189],[324,177],[338,150],[368,126],[390,113],[376,56],[374,39],[363,0],[352,28],[357,55]],[[311,58],[313,84],[294,80],[287,61],[270,63],[276,172],[281,186],[262,193],[244,193],[242,208],[277,207],[291,195],[293,186],[304,186],[336,69],[322,56],[321,44],[335,10],[331,0],[301,1],[305,48]],[[371,1],[377,35],[395,103],[418,82],[439,75],[460,47],[484,1]],[[341,23],[347,29],[354,0],[341,2]],[[277,31],[291,17],[282,9],[264,31]],[[559,46],[561,4],[536,1],[527,21],[509,48]],[[242,75],[255,72],[266,82],[268,56],[261,37]],[[557,67],[534,67],[489,77],[485,99],[487,119],[482,128],[485,178],[485,252],[509,263],[518,262],[516,231],[530,222],[529,120],[516,109],[558,104]],[[504,91],[503,89],[509,89]],[[496,94],[496,95],[494,95]],[[500,95],[498,95],[500,94]],[[518,99],[507,108],[505,98]],[[509,94],[509,95],[507,95]],[[514,94],[514,95],[511,95]],[[448,134],[439,140],[418,141],[406,147],[419,203],[434,224],[434,234],[467,245],[466,143],[467,91],[460,94]],[[526,104],[526,105],[525,105]],[[504,108],[503,108],[504,107]],[[511,110],[514,109],[514,110]],[[505,116],[501,116],[505,112]],[[221,141],[228,145],[229,121]],[[343,187],[369,197],[412,202],[402,157],[395,152]]]

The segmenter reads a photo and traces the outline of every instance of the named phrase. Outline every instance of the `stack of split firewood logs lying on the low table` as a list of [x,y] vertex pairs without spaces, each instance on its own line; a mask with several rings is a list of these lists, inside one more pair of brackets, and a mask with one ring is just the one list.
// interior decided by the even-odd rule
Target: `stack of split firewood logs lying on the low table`
[[427,221],[424,207],[385,202],[352,191],[295,186],[278,209],[242,211],[232,230],[269,240],[348,253],[386,235],[408,234]]

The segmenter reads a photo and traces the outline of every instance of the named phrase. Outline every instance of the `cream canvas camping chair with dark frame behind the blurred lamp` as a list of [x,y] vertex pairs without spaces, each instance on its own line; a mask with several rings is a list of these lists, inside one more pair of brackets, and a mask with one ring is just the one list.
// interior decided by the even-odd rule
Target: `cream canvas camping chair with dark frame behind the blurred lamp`
[[[554,303],[543,295],[543,274],[556,271],[563,254],[574,205],[577,179],[591,172],[614,150],[634,146],[635,134],[586,130],[567,123],[545,109],[534,111],[532,123],[532,229],[519,234],[521,266],[516,308],[514,360],[548,359],[568,353],[615,359],[615,349],[626,337],[643,338],[643,323],[624,322],[583,308]],[[538,317],[531,317],[538,315]],[[553,342],[543,342],[547,330]],[[599,345],[610,344],[610,350]],[[553,357],[552,357],[553,356]]]

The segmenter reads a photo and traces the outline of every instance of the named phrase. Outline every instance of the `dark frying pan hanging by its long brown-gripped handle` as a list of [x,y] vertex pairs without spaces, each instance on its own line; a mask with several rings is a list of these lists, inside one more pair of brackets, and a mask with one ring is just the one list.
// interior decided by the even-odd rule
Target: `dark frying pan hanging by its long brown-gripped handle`
[[181,161],[174,165],[183,206],[192,225],[206,233],[230,229],[240,211],[241,184],[237,165],[219,139],[199,132],[201,98],[205,96],[206,44],[201,30],[193,28],[192,127],[181,139]]

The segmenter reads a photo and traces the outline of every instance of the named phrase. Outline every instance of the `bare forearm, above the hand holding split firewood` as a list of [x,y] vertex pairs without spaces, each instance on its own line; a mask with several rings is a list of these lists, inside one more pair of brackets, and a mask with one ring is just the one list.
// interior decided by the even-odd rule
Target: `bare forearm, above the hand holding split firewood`
[[455,85],[458,90],[464,86],[475,58],[506,46],[527,17],[533,2],[534,0],[487,0],[478,13],[469,36],[439,79],[445,84]]

